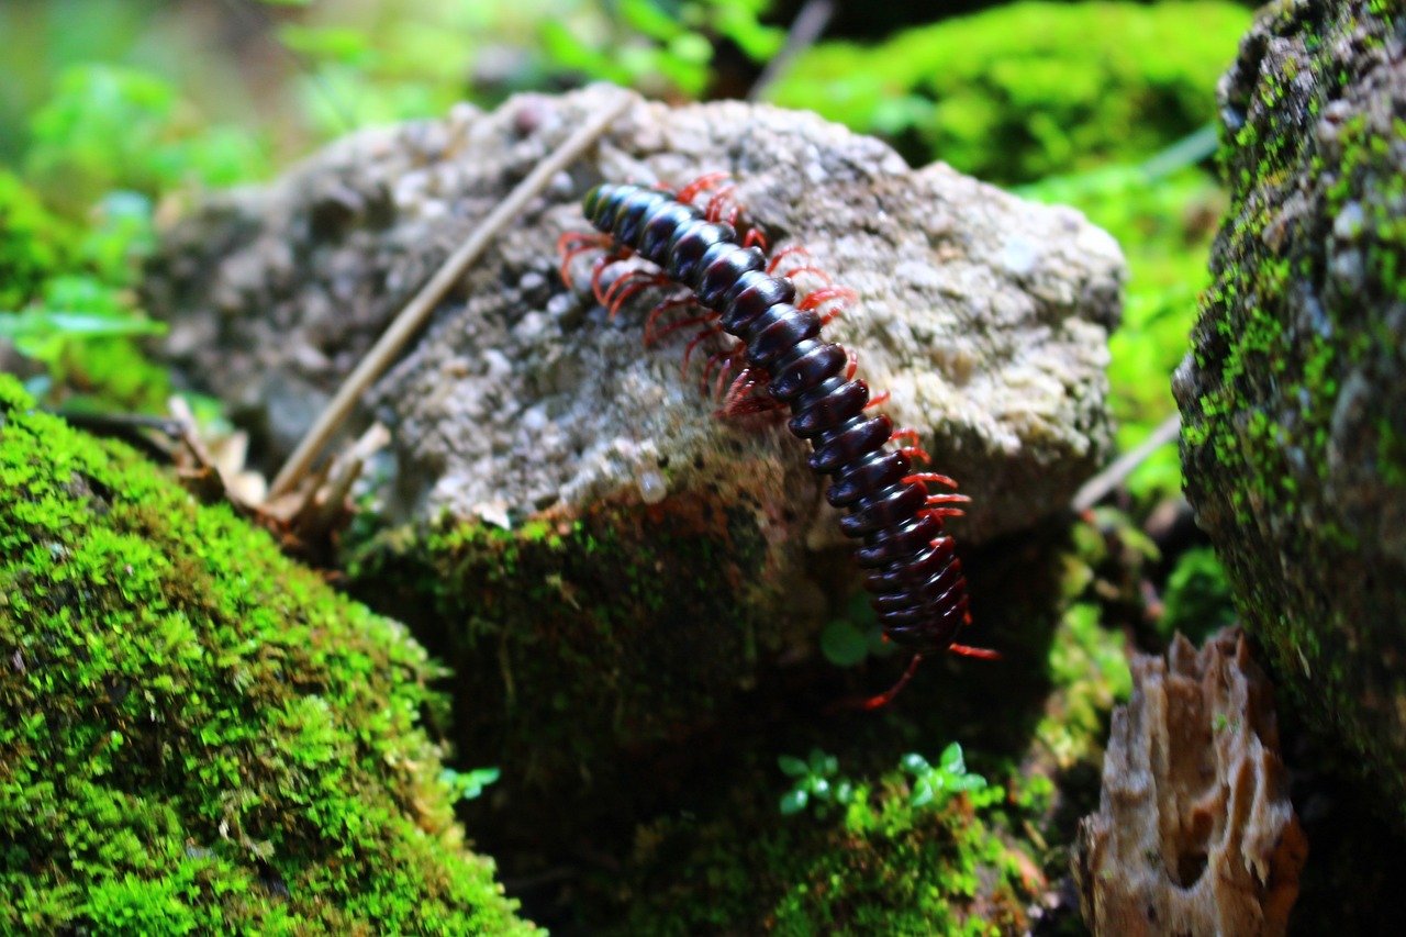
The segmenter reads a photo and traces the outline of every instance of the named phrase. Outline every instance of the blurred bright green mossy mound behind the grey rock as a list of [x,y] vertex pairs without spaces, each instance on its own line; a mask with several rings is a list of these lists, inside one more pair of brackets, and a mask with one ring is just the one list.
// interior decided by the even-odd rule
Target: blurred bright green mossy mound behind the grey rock
[[1140,162],[1213,118],[1250,24],[1232,3],[1014,3],[860,46],[824,42],[770,98],[1001,183]]

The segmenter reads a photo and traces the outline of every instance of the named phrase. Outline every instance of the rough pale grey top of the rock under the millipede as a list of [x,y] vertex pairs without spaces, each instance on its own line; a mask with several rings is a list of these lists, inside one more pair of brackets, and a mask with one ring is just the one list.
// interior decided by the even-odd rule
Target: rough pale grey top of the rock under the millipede
[[[413,288],[614,93],[522,96],[494,114],[465,107],[360,134],[274,186],[205,207],[166,239],[149,281],[152,308],[173,322],[170,357],[285,452]],[[634,498],[661,476],[669,492],[733,488],[740,464],[778,452],[787,474],[776,495],[817,516],[801,447],[787,449],[775,421],[711,419],[696,390],[706,356],[681,380],[689,331],[643,346],[658,295],[609,322],[557,274],[554,243],[585,227],[579,200],[592,184],[683,184],[713,170],[734,174],[776,248],[806,245],[859,291],[832,335],[893,391],[890,412],[922,431],[939,470],[976,497],[963,537],[1062,506],[1107,454],[1102,370],[1122,260],[1104,232],[942,165],[910,170],[883,144],[813,114],[640,100],[503,234],[377,385],[377,414],[395,435],[391,519],[449,509],[506,525]],[[832,540],[824,519],[817,536]]]

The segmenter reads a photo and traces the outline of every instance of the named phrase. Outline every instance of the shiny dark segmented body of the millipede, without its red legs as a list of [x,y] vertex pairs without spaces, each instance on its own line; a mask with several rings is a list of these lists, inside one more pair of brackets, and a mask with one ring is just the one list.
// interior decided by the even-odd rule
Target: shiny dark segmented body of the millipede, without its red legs
[[966,580],[941,511],[914,480],[903,452],[887,449],[893,422],[868,415],[869,387],[845,374],[849,356],[820,338],[820,317],[792,304],[796,286],[766,273],[766,256],[737,243],[737,231],[671,193],[631,184],[591,190],[585,214],[617,245],[636,250],[718,314],[742,342],[747,363],[769,376],[770,395],[790,407],[790,431],[810,440],[810,466],[831,476],[830,504],[862,544],[858,560],[884,633],[918,654],[946,650],[967,618]]

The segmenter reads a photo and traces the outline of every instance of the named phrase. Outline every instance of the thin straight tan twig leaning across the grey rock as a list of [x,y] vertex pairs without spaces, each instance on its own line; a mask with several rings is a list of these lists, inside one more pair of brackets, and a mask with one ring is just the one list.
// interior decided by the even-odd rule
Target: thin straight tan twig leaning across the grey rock
[[503,228],[522,214],[527,203],[547,187],[551,177],[585,152],[605,132],[606,127],[624,113],[633,100],[633,96],[621,93],[609,107],[602,108],[599,114],[572,134],[547,159],[537,163],[537,167],[517,183],[517,187],[509,193],[508,198],[494,208],[492,214],[470,235],[468,241],[450,255],[430,281],[425,284],[425,288],[401,310],[401,314],[395,317],[391,326],[381,335],[375,348],[367,352],[367,356],[361,359],[356,370],[342,383],[337,395],[332,398],[332,402],[318,416],[308,435],[302,438],[298,447],[288,456],[288,461],[278,470],[278,476],[273,481],[273,488],[269,491],[270,498],[277,498],[298,484],[307,474],[308,466],[312,464],[312,460],[322,450],[322,446],[326,445],[328,439],[332,438],[352,414],[366,388],[389,367],[399,350],[419,331],[450,287],[464,276],[464,270],[478,259]]

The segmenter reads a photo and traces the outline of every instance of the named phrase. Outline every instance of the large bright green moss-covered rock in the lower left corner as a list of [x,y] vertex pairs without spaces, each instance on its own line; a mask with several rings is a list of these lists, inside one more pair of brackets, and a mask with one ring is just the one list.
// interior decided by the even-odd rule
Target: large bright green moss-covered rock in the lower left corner
[[464,848],[437,674],[0,376],[0,931],[534,930]]

